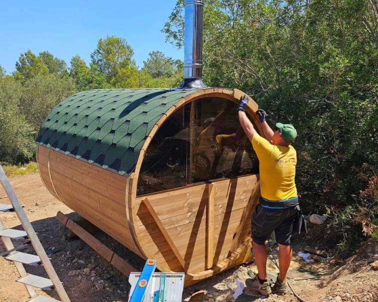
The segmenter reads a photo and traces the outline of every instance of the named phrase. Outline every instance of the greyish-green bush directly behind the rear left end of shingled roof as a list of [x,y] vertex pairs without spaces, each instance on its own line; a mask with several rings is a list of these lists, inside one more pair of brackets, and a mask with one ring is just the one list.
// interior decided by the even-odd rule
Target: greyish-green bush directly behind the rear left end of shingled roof
[[27,79],[20,99],[22,113],[37,132],[51,110],[76,91],[77,87],[70,77],[38,75]]

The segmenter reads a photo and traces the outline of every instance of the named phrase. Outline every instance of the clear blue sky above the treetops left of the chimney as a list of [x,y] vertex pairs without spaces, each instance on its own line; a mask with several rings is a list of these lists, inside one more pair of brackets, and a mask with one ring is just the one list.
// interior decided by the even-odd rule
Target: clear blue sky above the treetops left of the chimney
[[75,55],[87,63],[97,40],[126,39],[139,66],[154,50],[183,59],[184,51],[165,42],[160,32],[176,0],[1,0],[0,65],[15,70],[21,53],[49,51],[69,65]]

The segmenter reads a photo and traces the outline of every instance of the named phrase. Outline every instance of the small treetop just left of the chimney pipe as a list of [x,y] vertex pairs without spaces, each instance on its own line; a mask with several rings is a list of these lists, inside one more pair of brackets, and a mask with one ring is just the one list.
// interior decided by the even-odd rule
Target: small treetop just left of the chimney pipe
[[180,63],[180,60],[173,60],[172,58],[166,57],[160,51],[153,51],[149,53],[149,58],[147,61],[144,61],[144,69],[152,77],[166,76],[170,77],[175,74],[177,70],[177,65]]

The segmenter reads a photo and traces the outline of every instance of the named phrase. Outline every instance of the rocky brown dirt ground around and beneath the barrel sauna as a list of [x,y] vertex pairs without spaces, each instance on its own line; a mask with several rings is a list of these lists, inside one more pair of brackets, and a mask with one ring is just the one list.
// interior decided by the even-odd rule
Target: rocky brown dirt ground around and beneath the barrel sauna
[[[130,286],[127,278],[117,269],[107,264],[81,239],[66,239],[66,229],[56,219],[58,211],[75,217],[68,207],[56,200],[43,186],[39,174],[31,173],[10,178],[20,202],[23,204],[29,220],[32,222],[45,249],[62,247],[58,252],[50,255],[51,262],[72,302],[123,302],[127,301]],[[9,200],[5,192],[0,189],[0,203],[8,204]],[[5,227],[22,229],[14,212],[0,212],[0,219]],[[316,230],[317,226],[311,226]],[[318,233],[321,230],[318,230]],[[288,277],[294,291],[307,302],[378,302],[378,271],[373,270],[372,263],[378,260],[378,243],[370,240],[349,259],[333,259],[331,251],[324,251],[318,245],[319,236],[316,232],[310,232],[307,238],[307,249],[314,249],[321,254],[327,254],[327,258],[320,258],[321,263],[306,263],[303,258],[296,255],[303,251],[302,245],[294,244],[295,256],[290,266]],[[95,236],[107,244],[135,268],[140,269],[144,261],[135,256],[106,234],[98,231]],[[311,238],[311,236],[314,236]],[[14,245],[19,245],[24,239],[13,240]],[[299,241],[299,240],[297,240]],[[0,243],[0,252],[4,251]],[[30,245],[21,249],[23,252],[34,253]],[[273,255],[277,259],[277,247],[273,247]],[[277,268],[274,265],[272,255],[268,260],[268,271],[272,277]],[[27,272],[47,277],[42,266],[25,266]],[[256,271],[254,264],[241,265],[222,274],[214,276],[200,283],[194,284],[184,290],[183,301],[188,301],[190,295],[196,290],[205,290],[204,301],[235,301],[232,299],[233,289],[236,287],[236,279],[244,282],[250,278],[248,271]],[[314,278],[315,277],[315,278]],[[17,271],[12,262],[0,257],[0,302],[27,301],[28,296],[24,286],[15,282],[18,278]],[[309,279],[310,278],[310,279]],[[59,300],[55,291],[39,292]],[[263,297],[256,293],[244,291],[240,301],[266,301],[289,302],[297,301],[293,294],[285,296],[270,295]]]

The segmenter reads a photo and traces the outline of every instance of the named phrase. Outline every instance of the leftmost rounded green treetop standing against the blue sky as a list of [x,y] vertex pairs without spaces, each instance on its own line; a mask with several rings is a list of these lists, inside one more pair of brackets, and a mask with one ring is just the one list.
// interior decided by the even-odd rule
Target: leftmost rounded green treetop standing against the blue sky
[[49,69],[42,58],[37,57],[31,50],[20,55],[16,62],[16,71],[13,73],[17,79],[32,78],[36,75],[47,75]]

